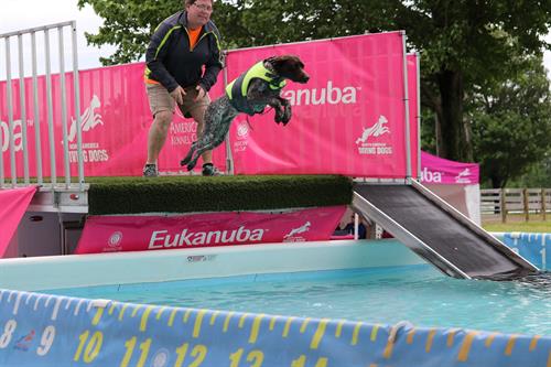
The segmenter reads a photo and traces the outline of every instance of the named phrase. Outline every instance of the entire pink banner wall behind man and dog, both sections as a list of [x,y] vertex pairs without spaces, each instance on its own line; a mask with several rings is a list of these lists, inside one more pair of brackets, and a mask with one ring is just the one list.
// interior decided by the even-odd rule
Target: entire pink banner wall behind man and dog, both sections
[[[230,130],[237,174],[317,174],[404,177],[406,114],[403,44],[401,32],[367,34],[327,41],[237,50],[227,57],[228,80],[261,58],[296,54],[311,80],[290,83],[283,96],[293,105],[293,119],[283,127],[273,111],[236,118]],[[408,56],[412,175],[417,176],[417,57]],[[143,63],[80,72],[80,117],[85,175],[141,175],[152,117],[144,86]],[[39,78],[39,115],[34,116],[33,88],[24,80],[31,175],[36,175],[35,130],[40,126],[45,176],[51,174],[45,78]],[[60,75],[52,80],[55,166],[64,175],[62,97]],[[76,116],[73,75],[66,74],[67,131],[73,175],[77,174]],[[210,90],[222,95],[222,76]],[[22,114],[19,80],[12,83],[17,174],[23,175]],[[7,83],[0,83],[0,136],[9,133]],[[179,111],[161,153],[161,173],[185,173],[180,160],[196,138],[196,123]],[[4,173],[11,176],[10,144],[2,139]],[[224,144],[214,152],[215,164],[226,168]]]

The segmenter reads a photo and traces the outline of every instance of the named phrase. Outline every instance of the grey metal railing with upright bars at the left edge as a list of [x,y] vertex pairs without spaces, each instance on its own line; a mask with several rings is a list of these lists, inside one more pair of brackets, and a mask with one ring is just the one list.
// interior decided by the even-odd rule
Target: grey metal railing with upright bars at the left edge
[[[64,30],[68,29],[71,33],[72,47],[65,46],[65,35]],[[52,31],[57,31],[57,66],[60,72],[58,85],[54,85],[54,78],[52,76]],[[39,39],[43,37],[43,39]],[[12,40],[17,39],[17,64],[19,65],[19,100],[14,98],[14,89],[17,89],[17,79],[13,79],[12,75]],[[43,90],[40,88],[39,75],[37,75],[37,41],[43,40],[44,53],[44,71],[45,71],[45,87]],[[78,181],[76,184],[80,191],[84,190],[84,156],[83,156],[83,142],[82,142],[82,121],[80,121],[80,86],[78,78],[78,52],[77,52],[77,33],[76,33],[76,22],[68,21],[63,23],[56,23],[51,25],[44,25],[22,31],[15,31],[11,33],[0,34],[0,42],[3,41],[4,54],[6,54],[6,93],[0,95],[0,107],[7,106],[7,123],[1,121],[4,116],[3,111],[0,111],[0,148],[2,150],[2,156],[0,159],[0,188],[15,187],[15,186],[26,186],[31,184],[39,184],[43,187],[51,187],[55,190],[56,187],[69,188],[74,186],[72,182],[71,174],[71,161],[69,161],[69,143],[67,134],[67,86],[66,86],[66,71],[65,71],[65,57],[68,54],[67,48],[72,53],[72,68],[73,74],[73,101],[74,101],[74,112],[76,119],[76,137],[77,137],[77,164],[78,164]],[[1,44],[1,43],[0,43]],[[25,83],[25,66],[28,66],[29,61],[25,60],[25,47],[31,48],[31,80]],[[29,80],[28,80],[29,82]],[[57,87],[57,88],[55,88]],[[32,93],[29,94],[32,89]],[[54,116],[54,90],[58,90],[61,100],[61,116]],[[45,104],[41,102],[39,96],[42,94]],[[26,100],[26,96],[32,96],[32,101]],[[30,156],[29,150],[29,136],[28,136],[28,118],[31,109],[32,102],[32,116],[34,126],[34,156]],[[19,105],[20,116],[14,116],[14,107]],[[41,115],[42,111],[42,115]],[[45,111],[45,112],[44,112]],[[41,119],[41,116],[45,118]],[[45,120],[44,120],[45,119]],[[55,138],[55,121],[61,119],[62,130],[63,130],[63,175],[65,176],[64,182],[57,182],[56,171],[56,141]],[[57,120],[60,121],[60,120]],[[46,126],[47,123],[47,126]],[[6,128],[7,127],[7,128]],[[41,137],[41,128],[47,127],[47,143],[48,149],[43,149]],[[20,128],[21,132],[15,133],[15,128]],[[20,140],[20,144],[17,145],[15,139]],[[58,139],[58,138],[57,138]],[[9,152],[8,152],[9,151]],[[22,154],[17,154],[18,151],[22,151]],[[4,166],[4,153],[9,153],[9,177],[7,177]],[[47,154],[45,154],[47,153]],[[7,154],[6,154],[7,155]],[[22,162],[20,156],[22,155]],[[45,155],[45,156],[44,156]],[[18,162],[19,159],[19,162]],[[33,163],[33,172],[30,172],[30,161]],[[45,176],[43,172],[44,162],[50,163],[50,183],[45,183]],[[22,171],[22,174],[21,174]],[[7,180],[9,179],[9,180]],[[33,179],[33,180],[31,180]],[[34,180],[36,182],[34,182]],[[31,182],[32,181],[32,182]]]

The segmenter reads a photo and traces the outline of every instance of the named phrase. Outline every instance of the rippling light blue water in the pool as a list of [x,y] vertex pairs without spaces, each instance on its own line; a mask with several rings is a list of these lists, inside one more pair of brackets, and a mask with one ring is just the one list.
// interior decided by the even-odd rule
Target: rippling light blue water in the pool
[[458,280],[429,266],[411,266],[51,293],[247,313],[385,324],[409,321],[424,327],[551,335],[551,273],[495,282]]

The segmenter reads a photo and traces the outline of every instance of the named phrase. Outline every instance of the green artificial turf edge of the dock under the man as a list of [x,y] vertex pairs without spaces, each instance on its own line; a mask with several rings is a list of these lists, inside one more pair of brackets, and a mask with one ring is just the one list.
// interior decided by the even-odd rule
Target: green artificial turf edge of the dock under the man
[[90,215],[264,211],[347,205],[339,175],[87,177]]

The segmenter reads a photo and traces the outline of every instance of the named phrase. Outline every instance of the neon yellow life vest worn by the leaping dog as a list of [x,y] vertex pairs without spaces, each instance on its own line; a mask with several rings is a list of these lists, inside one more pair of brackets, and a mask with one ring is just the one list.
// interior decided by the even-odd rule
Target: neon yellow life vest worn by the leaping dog
[[270,89],[272,90],[281,90],[287,84],[282,77],[274,75],[272,72],[267,69],[263,61],[255,64],[247,72],[242,73],[237,79],[228,84],[226,87],[226,95],[228,96],[231,106],[234,106],[234,108],[239,112],[250,116],[261,114],[264,109],[264,105],[258,106],[257,109],[255,109],[255,106],[251,106],[247,100],[247,90],[249,90],[250,82],[255,78],[259,78],[268,83]]

